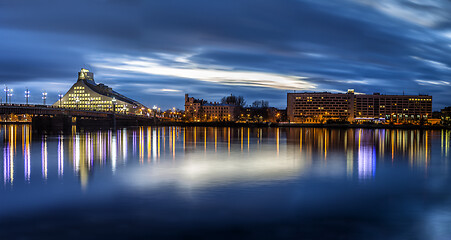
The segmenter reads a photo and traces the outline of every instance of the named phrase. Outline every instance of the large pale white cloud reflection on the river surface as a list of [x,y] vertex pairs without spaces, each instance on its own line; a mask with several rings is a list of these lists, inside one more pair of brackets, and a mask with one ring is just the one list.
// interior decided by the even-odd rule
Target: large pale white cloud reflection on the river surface
[[[291,153],[280,153],[275,159],[274,149],[265,147],[261,151],[245,153],[227,152],[215,154],[215,158],[196,152],[185,155],[177,167],[169,162],[159,165],[141,166],[131,169],[122,179],[125,184],[137,188],[157,188],[174,184],[181,188],[204,188],[237,182],[259,184],[262,181],[279,181],[299,177],[309,166],[304,158],[296,158],[293,164]],[[250,155],[250,156],[249,156]]]

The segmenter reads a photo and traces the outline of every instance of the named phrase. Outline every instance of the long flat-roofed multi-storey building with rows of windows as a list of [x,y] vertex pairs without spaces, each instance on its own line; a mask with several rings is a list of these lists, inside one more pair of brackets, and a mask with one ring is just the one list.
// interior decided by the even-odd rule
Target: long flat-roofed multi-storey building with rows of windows
[[389,120],[415,122],[432,115],[432,96],[348,93],[288,93],[290,122]]

